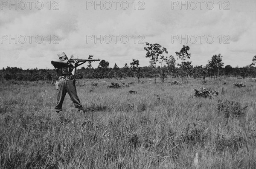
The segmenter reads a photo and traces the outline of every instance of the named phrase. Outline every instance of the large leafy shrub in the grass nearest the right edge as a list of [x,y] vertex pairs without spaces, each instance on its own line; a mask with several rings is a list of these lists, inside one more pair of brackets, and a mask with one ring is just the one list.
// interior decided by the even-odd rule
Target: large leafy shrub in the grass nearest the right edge
[[218,100],[218,112],[224,113],[225,118],[240,118],[241,116],[245,115],[246,111],[247,106],[242,107],[239,102]]

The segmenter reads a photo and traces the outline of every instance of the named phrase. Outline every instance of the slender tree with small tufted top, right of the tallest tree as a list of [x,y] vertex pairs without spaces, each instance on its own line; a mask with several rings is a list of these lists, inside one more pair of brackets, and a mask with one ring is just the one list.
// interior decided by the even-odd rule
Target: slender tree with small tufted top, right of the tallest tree
[[180,52],[175,52],[178,59],[181,59],[182,61],[181,64],[177,64],[178,66],[180,66],[180,75],[182,77],[189,77],[193,68],[191,62],[185,62],[187,59],[190,59],[191,56],[191,54],[188,53],[189,49],[189,46],[183,45],[183,47],[180,49]]

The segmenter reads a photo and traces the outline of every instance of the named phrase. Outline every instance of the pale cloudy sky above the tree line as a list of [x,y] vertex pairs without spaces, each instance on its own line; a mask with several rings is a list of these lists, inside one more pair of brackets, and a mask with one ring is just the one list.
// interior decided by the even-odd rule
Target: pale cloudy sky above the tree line
[[[256,55],[256,0],[0,0],[0,68],[52,69],[57,53],[104,59],[110,67],[138,59],[145,42],[168,54],[188,45],[193,66],[221,54],[244,67]],[[99,62],[92,64],[96,68]],[[87,67],[87,65],[84,65]]]

